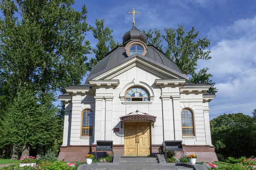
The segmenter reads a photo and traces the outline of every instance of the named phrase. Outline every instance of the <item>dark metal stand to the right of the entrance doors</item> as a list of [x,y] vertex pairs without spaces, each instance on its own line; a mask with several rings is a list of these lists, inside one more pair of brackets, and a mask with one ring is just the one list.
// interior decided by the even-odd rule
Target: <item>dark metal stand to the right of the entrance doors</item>
[[181,156],[184,155],[183,148],[182,148],[182,141],[164,141],[163,147],[164,147],[166,159],[167,159],[167,151],[171,151],[171,150],[180,151]]

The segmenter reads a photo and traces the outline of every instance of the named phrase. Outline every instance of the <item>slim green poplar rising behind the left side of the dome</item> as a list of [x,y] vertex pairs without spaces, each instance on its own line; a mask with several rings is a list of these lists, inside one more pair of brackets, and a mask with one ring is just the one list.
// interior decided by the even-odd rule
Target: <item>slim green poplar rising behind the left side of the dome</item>
[[93,32],[93,37],[97,40],[96,48],[93,48],[95,58],[91,58],[90,62],[87,63],[87,67],[90,71],[100,60],[104,58],[105,54],[108,54],[110,50],[116,48],[116,45],[119,44],[114,41],[113,36],[111,35],[113,30],[108,26],[105,27],[104,22],[105,20],[103,19],[96,19],[96,27],[93,28],[90,26]]

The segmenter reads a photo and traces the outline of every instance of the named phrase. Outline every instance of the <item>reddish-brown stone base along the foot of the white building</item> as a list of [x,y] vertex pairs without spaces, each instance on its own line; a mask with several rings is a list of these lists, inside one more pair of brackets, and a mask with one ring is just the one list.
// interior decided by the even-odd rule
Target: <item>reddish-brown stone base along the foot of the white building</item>
[[[65,162],[73,162],[79,161],[84,162],[86,161],[85,156],[88,153],[95,153],[96,145],[68,145],[68,146],[61,146],[61,152],[59,153],[58,160],[65,161]],[[163,150],[162,145],[153,144],[151,146],[152,156],[157,153],[160,153]],[[215,147],[209,145],[183,145],[183,151],[185,155],[195,154],[198,156],[197,162],[213,162],[218,161]],[[114,154],[121,154],[124,156],[124,145],[118,144],[113,145],[113,152]],[[111,152],[107,152],[110,153]],[[98,157],[104,157],[106,153],[97,152]],[[176,158],[180,158],[181,153],[177,152]]]

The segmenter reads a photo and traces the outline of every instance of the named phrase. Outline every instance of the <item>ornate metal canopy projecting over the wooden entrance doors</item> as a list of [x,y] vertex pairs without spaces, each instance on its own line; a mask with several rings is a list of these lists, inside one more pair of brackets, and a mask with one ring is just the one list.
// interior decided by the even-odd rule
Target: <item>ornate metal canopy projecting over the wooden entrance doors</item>
[[143,120],[148,120],[148,121],[151,121],[151,126],[154,127],[154,122],[156,122],[156,118],[157,116],[152,116],[152,115],[149,115],[147,113],[142,113],[140,111],[135,111],[135,112],[131,112],[125,116],[121,116],[119,117],[120,118],[120,121],[121,121],[121,128],[122,128],[122,122],[124,121],[136,121],[136,120],[140,120],[140,121],[143,121]]

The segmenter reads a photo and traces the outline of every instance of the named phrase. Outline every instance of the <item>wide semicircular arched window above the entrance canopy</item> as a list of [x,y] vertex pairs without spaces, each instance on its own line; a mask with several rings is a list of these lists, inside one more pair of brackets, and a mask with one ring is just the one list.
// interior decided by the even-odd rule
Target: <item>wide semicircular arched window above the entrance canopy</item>
[[129,88],[125,93],[125,101],[149,101],[148,91],[141,87]]

